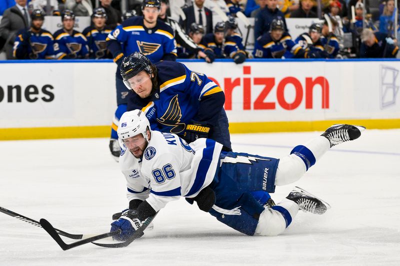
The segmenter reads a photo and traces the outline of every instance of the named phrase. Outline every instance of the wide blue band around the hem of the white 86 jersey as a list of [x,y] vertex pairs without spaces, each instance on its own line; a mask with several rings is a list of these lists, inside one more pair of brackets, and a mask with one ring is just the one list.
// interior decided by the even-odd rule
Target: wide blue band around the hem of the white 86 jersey
[[196,177],[194,178],[193,185],[191,186],[189,192],[184,197],[188,197],[197,193],[204,185],[208,169],[213,159],[212,157],[214,155],[214,148],[215,148],[215,141],[206,139],[205,148],[203,149],[202,158],[198,163]]

